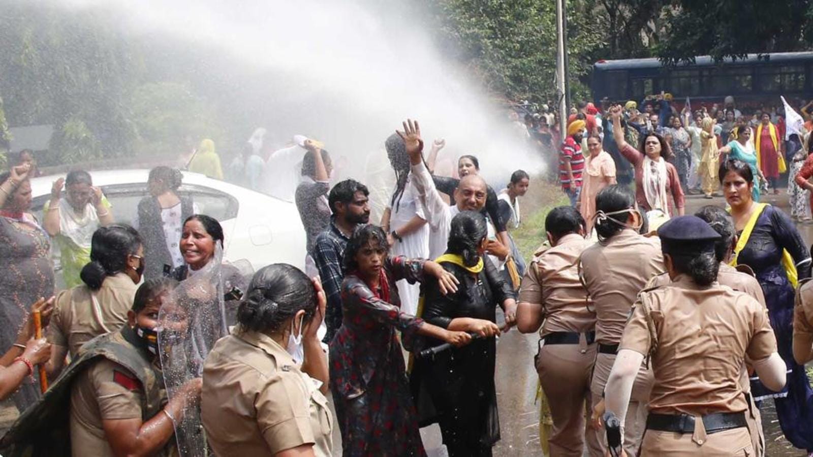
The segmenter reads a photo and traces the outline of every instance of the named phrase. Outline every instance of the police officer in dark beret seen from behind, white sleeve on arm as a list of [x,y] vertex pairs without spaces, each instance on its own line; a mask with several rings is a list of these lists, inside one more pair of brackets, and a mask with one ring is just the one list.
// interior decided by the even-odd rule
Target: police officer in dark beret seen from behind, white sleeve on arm
[[672,284],[639,294],[607,380],[607,414],[624,418],[646,357],[654,385],[641,455],[752,455],[740,383],[746,355],[769,389],[785,385],[767,310],[716,282],[720,234],[705,221],[680,216],[658,234]]

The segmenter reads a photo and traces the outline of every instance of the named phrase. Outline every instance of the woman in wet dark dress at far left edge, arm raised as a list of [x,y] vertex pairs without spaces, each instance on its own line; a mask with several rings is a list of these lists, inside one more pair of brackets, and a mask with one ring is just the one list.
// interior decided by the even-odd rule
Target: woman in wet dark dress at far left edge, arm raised
[[[0,350],[9,350],[15,342],[24,343],[17,338],[25,328],[31,303],[54,294],[49,237],[30,213],[29,172],[30,166],[23,164],[0,173],[0,262],[4,266],[0,275]],[[39,396],[33,379],[24,380],[14,395],[15,405],[24,411]]]

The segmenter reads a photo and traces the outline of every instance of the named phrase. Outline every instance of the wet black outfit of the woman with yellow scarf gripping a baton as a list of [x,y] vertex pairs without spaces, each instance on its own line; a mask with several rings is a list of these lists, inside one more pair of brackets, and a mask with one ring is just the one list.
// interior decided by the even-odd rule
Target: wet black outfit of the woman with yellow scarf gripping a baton
[[[474,274],[448,261],[441,266],[458,279],[458,291],[443,295],[437,280],[424,285],[423,318],[447,329],[459,317],[496,322],[496,308],[514,298],[511,286],[493,263]],[[427,338],[425,346],[442,342]],[[467,346],[452,348],[434,359],[415,359],[412,392],[421,405],[421,425],[438,422],[450,457],[490,456],[500,439],[497,394],[494,387],[497,342],[493,337],[473,339]],[[433,414],[434,412],[434,414]]]

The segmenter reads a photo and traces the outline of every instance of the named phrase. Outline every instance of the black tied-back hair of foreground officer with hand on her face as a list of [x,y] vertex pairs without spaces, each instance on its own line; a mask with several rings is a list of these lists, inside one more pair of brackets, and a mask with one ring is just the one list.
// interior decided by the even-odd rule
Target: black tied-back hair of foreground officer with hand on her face
[[272,263],[254,273],[246,296],[237,307],[242,329],[255,332],[279,331],[299,310],[305,321],[316,311],[316,289],[305,273],[288,263]]

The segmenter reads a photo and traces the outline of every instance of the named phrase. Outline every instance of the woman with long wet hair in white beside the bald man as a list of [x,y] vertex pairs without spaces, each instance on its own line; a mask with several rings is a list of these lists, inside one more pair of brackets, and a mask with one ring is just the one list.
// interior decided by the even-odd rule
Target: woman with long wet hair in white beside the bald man
[[[385,141],[389,163],[395,172],[395,190],[389,200],[381,228],[388,233],[387,241],[392,246],[393,256],[403,255],[408,259],[429,257],[429,225],[426,223],[424,207],[418,198],[410,179],[409,155],[401,137],[393,133]],[[396,283],[401,296],[402,308],[408,314],[418,310],[420,285],[409,284],[406,280]]]

